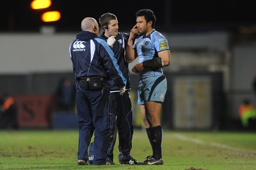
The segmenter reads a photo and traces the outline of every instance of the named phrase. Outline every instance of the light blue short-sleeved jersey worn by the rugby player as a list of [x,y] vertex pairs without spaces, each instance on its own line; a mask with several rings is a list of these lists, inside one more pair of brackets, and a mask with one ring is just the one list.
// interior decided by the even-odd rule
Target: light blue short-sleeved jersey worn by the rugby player
[[[137,50],[138,63],[143,63],[150,59],[158,58],[157,52],[162,50],[169,50],[168,41],[158,31],[154,30],[148,36],[139,36],[134,40],[133,49]],[[140,72],[141,78],[162,75],[163,69],[158,68],[152,70],[151,68],[144,68]]]

